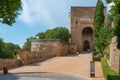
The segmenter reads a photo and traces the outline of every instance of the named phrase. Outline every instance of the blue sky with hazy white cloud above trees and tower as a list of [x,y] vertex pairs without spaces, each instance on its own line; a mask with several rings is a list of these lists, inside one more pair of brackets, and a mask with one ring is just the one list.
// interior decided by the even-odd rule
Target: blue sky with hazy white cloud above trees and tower
[[[26,38],[56,26],[69,28],[71,6],[95,6],[97,0],[22,0],[23,11],[13,26],[0,23],[4,42],[23,46]],[[105,1],[103,0],[105,3]]]

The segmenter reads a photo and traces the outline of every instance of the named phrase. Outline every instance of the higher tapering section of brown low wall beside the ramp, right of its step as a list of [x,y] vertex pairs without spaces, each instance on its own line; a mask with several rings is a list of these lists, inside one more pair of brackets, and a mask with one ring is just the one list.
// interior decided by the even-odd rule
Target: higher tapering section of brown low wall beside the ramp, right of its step
[[35,62],[39,62],[45,59],[49,59],[54,57],[53,54],[45,54],[36,51],[27,51],[27,50],[17,50],[17,54],[20,57],[21,64],[19,65],[27,65]]

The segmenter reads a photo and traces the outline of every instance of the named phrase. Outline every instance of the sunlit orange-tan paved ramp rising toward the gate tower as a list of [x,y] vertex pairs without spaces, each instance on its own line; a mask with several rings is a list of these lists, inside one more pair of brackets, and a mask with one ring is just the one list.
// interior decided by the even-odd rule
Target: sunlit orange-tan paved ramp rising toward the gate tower
[[42,63],[14,68],[9,73],[60,73],[88,80],[104,80],[100,62],[95,62],[95,78],[90,78],[91,54],[55,57]]

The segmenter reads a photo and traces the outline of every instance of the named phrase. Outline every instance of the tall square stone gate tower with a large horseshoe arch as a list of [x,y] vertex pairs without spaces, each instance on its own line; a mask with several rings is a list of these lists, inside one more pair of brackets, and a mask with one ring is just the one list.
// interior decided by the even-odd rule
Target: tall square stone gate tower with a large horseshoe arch
[[[70,32],[71,43],[77,45],[77,51],[93,50],[93,21],[95,7],[71,7]],[[106,10],[105,10],[106,12]]]

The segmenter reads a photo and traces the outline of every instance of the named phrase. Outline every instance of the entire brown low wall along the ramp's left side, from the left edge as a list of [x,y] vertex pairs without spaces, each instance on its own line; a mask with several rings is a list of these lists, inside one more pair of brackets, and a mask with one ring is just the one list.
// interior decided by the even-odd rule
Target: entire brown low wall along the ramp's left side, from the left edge
[[17,55],[19,59],[0,59],[0,70],[3,69],[3,67],[23,66],[55,57],[53,54],[30,52],[27,50],[17,50]]

